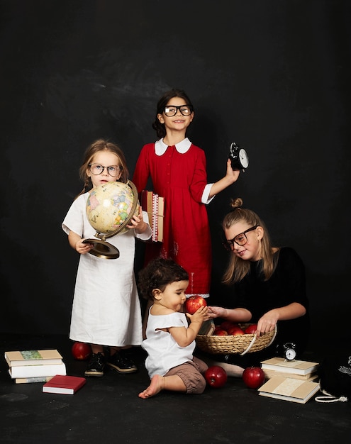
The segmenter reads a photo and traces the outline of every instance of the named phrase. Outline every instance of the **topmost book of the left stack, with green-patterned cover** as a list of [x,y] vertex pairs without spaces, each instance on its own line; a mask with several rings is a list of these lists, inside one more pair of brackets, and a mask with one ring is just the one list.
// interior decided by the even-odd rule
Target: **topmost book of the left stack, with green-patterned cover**
[[5,352],[9,367],[22,365],[54,365],[61,364],[62,356],[57,350],[23,350]]

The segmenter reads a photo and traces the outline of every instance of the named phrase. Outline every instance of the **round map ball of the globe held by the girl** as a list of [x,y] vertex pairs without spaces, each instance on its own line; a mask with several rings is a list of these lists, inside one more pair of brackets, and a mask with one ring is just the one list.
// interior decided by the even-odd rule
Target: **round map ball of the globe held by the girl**
[[89,223],[97,234],[104,233],[103,238],[127,231],[126,225],[138,213],[138,193],[130,181],[100,185],[93,189],[87,200]]

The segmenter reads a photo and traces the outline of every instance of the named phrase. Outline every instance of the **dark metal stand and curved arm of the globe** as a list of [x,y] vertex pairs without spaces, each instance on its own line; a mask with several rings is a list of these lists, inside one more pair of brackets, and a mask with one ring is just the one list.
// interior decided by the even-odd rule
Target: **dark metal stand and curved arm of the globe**
[[128,217],[126,218],[126,220],[123,221],[123,223],[112,233],[105,233],[105,234],[96,233],[95,237],[99,238],[99,239],[92,239],[91,238],[91,239],[83,240],[83,243],[91,243],[92,245],[94,245],[93,248],[91,248],[91,250],[89,250],[89,253],[91,255],[94,255],[96,257],[100,257],[101,259],[118,259],[118,257],[119,257],[118,248],[116,248],[111,243],[106,242],[106,238],[111,238],[112,236],[114,236],[118,233],[121,233],[121,231],[123,231],[126,228],[126,226],[130,223],[130,220],[133,218],[135,211],[137,209],[138,203],[139,203],[138,202],[138,190],[135,187],[135,184],[133,184],[133,182],[128,180],[126,185],[128,185],[132,189],[132,192],[134,195],[132,209],[130,210],[130,213],[129,213]]

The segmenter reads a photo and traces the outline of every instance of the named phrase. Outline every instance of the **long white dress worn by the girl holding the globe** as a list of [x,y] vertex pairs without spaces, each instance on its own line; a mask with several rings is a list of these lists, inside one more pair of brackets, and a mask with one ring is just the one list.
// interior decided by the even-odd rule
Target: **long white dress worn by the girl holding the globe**
[[[79,196],[62,223],[65,233],[94,238],[86,213],[89,193]],[[143,219],[148,224],[147,213]],[[151,237],[148,225],[143,234],[133,229],[108,238],[119,250],[117,259],[80,255],[74,289],[69,338],[85,343],[123,347],[143,340],[140,299],[134,275],[135,237]]]

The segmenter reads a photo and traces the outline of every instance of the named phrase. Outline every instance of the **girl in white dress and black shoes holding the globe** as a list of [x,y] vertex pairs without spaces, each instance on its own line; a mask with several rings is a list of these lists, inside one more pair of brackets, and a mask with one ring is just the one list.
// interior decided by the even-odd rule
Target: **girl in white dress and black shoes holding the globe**
[[87,148],[79,173],[84,189],[62,223],[69,245],[80,255],[69,338],[91,345],[86,376],[103,376],[106,364],[121,373],[135,372],[137,367],[123,350],[140,345],[143,340],[133,266],[135,238],[151,237],[147,213],[140,207],[138,216],[133,216],[126,226],[127,231],[108,238],[108,243],[119,250],[117,259],[106,260],[89,254],[94,245],[83,241],[96,234],[87,218],[89,193],[107,182],[126,183],[128,168],[117,145],[96,140]]

